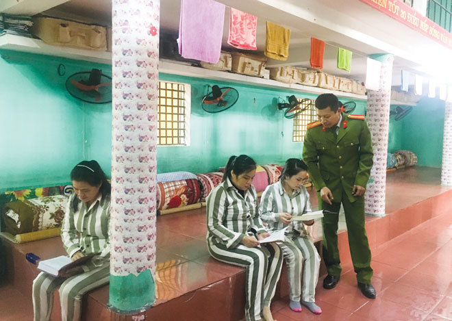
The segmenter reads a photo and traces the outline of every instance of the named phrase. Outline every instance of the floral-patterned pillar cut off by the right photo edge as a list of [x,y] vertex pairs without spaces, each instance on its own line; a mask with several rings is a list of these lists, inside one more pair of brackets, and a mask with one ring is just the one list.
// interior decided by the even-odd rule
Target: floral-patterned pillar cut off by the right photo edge
[[446,101],[442,136],[441,185],[452,186],[452,102]]

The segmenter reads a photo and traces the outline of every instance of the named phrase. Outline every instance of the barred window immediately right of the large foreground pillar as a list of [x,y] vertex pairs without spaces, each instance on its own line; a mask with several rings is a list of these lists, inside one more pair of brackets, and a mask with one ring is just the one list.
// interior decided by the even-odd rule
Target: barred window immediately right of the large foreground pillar
[[190,84],[159,81],[158,144],[190,144]]

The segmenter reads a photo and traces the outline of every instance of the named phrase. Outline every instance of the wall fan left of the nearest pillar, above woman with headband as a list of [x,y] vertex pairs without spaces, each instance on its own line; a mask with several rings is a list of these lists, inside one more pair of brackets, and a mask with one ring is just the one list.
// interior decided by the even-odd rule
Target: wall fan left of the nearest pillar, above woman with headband
[[112,101],[112,77],[102,70],[81,71],[66,79],[66,90],[71,96],[86,103],[110,103]]

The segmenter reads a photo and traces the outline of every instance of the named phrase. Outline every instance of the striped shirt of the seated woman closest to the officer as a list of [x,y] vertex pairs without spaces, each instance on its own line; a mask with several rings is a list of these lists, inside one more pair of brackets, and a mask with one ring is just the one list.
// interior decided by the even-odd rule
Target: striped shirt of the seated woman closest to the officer
[[[306,188],[301,185],[298,190],[294,190],[289,195],[281,185],[281,181],[277,181],[272,185],[268,185],[260,198],[260,212],[262,220],[268,223],[270,231],[283,229],[288,224],[279,221],[280,213],[288,213],[292,216],[305,214],[312,211],[309,194]],[[307,236],[305,224],[302,221],[295,221],[289,224],[286,230],[288,235]]]

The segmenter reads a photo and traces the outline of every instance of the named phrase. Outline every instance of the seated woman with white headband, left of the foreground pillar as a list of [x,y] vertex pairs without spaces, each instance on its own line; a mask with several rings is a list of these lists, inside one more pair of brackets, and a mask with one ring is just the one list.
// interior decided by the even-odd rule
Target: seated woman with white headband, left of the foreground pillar
[[64,277],[41,272],[33,281],[34,320],[50,320],[53,292],[60,287],[62,320],[80,320],[81,297],[110,281],[110,190],[101,166],[83,161],[71,171],[74,192],[68,200],[61,237],[74,261],[95,254]]

